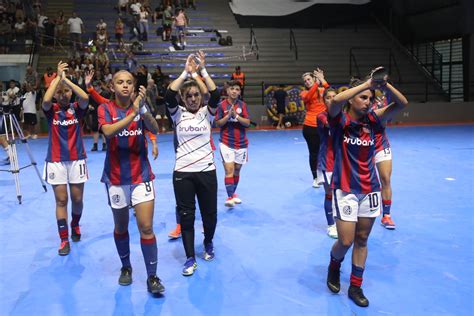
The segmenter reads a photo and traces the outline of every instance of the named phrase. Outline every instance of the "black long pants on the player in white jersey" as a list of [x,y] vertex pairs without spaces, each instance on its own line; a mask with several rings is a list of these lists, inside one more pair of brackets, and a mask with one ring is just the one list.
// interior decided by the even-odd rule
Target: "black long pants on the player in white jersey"
[[173,187],[186,258],[194,257],[196,196],[204,226],[204,243],[212,242],[217,225],[216,171],[173,172]]

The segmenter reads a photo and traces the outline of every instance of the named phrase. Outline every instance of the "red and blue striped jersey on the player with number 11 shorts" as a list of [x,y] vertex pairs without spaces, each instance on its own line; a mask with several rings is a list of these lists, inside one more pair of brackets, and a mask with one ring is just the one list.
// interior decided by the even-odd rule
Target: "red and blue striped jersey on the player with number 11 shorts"
[[61,162],[87,158],[81,130],[82,118],[86,111],[87,109],[81,109],[77,102],[70,103],[65,108],[54,103],[48,111],[44,111],[49,127],[46,161]]

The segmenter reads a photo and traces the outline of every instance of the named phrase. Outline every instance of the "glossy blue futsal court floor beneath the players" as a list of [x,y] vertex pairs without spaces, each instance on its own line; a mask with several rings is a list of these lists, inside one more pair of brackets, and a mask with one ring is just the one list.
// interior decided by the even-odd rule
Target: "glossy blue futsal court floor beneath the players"
[[[0,173],[1,315],[473,315],[474,126],[390,128],[394,153],[392,216],[379,219],[369,238],[364,273],[368,308],[347,297],[350,253],[341,292],[326,288],[329,250],[324,190],[311,187],[306,143],[300,130],[249,133],[249,162],[237,192],[243,204],[224,207],[220,156],[216,259],[202,259],[196,221],[198,269],[181,275],[181,240],[168,241],[175,226],[171,174],[172,135],[159,135],[154,228],[158,276],[165,295],[146,291],[139,233],[131,215],[134,281],[117,283],[120,260],[112,214],[99,182],[105,154],[88,152],[82,240],[69,256],[57,255],[59,237],[51,188],[43,193],[32,168],[21,171],[23,204],[11,174]],[[218,134],[214,134],[218,139]],[[86,138],[86,148],[92,139]],[[29,141],[42,165],[47,140]],[[100,147],[100,146],[99,146]],[[28,159],[19,146],[22,164]],[[70,211],[69,211],[70,212]]]

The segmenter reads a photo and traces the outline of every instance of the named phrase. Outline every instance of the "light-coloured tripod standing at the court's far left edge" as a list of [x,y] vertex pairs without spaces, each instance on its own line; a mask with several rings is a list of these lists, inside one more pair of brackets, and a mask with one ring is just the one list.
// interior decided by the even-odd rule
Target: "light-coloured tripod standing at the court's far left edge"
[[[11,110],[5,110],[3,112],[3,118],[0,120],[0,125],[3,123],[5,127],[5,137],[10,146],[10,150],[8,150],[8,158],[10,159],[10,169],[0,169],[0,171],[11,172],[13,174],[13,178],[15,179],[15,188],[16,188],[16,197],[18,198],[18,202],[21,204],[21,189],[20,189],[20,171],[22,169],[28,168],[33,166],[36,171],[36,175],[43,186],[44,192],[47,191],[46,183],[41,178],[41,175],[38,170],[37,163],[33,154],[31,153],[30,146],[28,145],[28,141],[21,130],[20,124],[16,119],[15,115],[11,113]],[[15,132],[18,134],[19,140],[25,144],[26,152],[30,158],[30,164],[20,167],[18,162],[18,155],[16,151],[16,139],[15,139]]]

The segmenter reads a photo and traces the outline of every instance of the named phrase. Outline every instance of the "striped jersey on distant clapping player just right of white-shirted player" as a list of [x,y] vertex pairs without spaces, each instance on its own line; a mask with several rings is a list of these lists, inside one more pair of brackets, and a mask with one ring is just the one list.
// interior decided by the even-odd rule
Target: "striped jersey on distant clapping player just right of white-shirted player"
[[[227,99],[219,103],[216,112],[216,120],[222,119],[234,107],[238,115],[243,118],[249,118],[247,111],[247,104],[241,100],[237,100],[232,105]],[[239,149],[247,148],[249,141],[247,139],[246,127],[237,121],[235,118],[229,118],[227,123],[221,127],[221,134],[219,141],[229,148]]]

